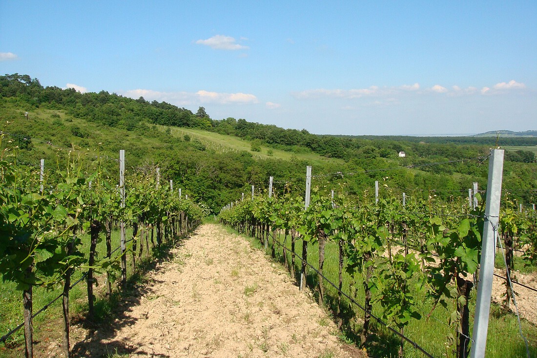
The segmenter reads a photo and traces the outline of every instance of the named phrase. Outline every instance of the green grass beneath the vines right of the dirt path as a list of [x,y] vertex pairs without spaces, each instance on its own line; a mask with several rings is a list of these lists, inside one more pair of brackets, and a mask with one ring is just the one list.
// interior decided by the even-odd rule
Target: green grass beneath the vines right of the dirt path
[[[251,246],[260,250],[264,250],[264,245],[259,240],[251,237],[246,237]],[[272,238],[270,238],[272,240]],[[283,237],[278,238],[279,242],[283,242]],[[265,251],[270,254],[269,250]],[[284,256],[281,254],[281,248],[277,245],[277,258],[276,260],[283,262]],[[291,249],[291,239],[287,239],[287,248]],[[301,240],[296,240],[295,252],[302,252]],[[291,255],[287,254],[287,261],[291,263]],[[314,267],[318,265],[318,245],[313,244],[308,246],[308,262]],[[300,260],[296,258],[295,272],[297,276],[295,279],[299,280],[300,274]],[[328,279],[337,284],[338,281],[338,247],[336,243],[328,242],[325,247],[325,262],[323,274]],[[343,290],[349,294],[349,288],[351,284],[351,277],[349,274],[344,273]],[[360,282],[359,275],[357,276],[357,282]],[[308,268],[307,282],[309,287],[317,286],[317,274]],[[356,285],[358,287],[356,293],[356,301],[359,303],[364,302],[364,292],[361,288],[361,284]],[[409,286],[411,286],[409,284]],[[475,311],[475,296],[476,291],[472,291],[470,299],[470,334],[473,327],[473,314]],[[416,294],[416,302],[420,303],[420,311],[424,318],[420,320],[412,320],[411,323],[405,328],[405,335],[410,339],[416,341],[427,352],[433,356],[453,356],[452,349],[454,347],[449,346],[448,336],[454,334],[454,330],[447,326],[449,313],[440,306],[432,311],[431,317],[426,318],[429,312],[432,310],[432,302],[426,298],[425,294]],[[330,310],[335,310],[337,304],[337,291],[325,283],[325,306]],[[346,342],[354,344],[359,343],[358,332],[361,328],[359,323],[363,317],[363,312],[355,308],[347,299],[343,299],[345,306],[344,313],[346,318],[346,324],[343,327],[340,337]],[[373,305],[373,314],[381,316],[382,307],[379,303]],[[354,319],[356,317],[357,319]],[[387,328],[380,324],[376,324],[372,320],[371,335],[367,344],[367,352],[371,356],[383,356],[383,357],[397,357],[397,347],[400,344],[400,340],[391,333]],[[319,322],[321,324],[321,322]],[[325,322],[323,322],[325,323]],[[529,323],[527,320],[522,320],[522,330],[528,341],[530,342],[530,352],[532,356],[537,355],[537,327]],[[410,344],[405,342],[404,345],[405,357],[423,357],[417,349],[413,348]],[[512,313],[503,312],[502,309],[496,305],[492,305],[488,340],[487,340],[487,357],[519,357],[526,356],[524,341],[521,339],[518,332],[517,317]],[[329,352],[325,352],[328,353]],[[323,356],[325,353],[322,353]],[[330,355],[326,355],[330,356]]]

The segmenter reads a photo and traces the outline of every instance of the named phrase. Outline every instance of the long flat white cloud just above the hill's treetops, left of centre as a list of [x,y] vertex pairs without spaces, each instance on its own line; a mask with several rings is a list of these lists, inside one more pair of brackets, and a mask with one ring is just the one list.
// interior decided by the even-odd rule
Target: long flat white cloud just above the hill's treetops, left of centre
[[165,101],[176,106],[214,104],[248,104],[257,103],[257,97],[249,93],[219,93],[200,90],[198,92],[158,92],[153,90],[129,90],[122,92],[126,97],[146,100]]

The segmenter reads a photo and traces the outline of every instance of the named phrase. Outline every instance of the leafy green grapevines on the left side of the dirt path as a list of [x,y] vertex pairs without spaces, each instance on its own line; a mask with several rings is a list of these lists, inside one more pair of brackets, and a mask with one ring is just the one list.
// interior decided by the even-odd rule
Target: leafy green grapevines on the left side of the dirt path
[[[124,151],[118,160],[100,155],[99,150],[73,149],[67,163],[55,163],[55,170],[45,171],[43,162],[41,167],[19,165],[18,148],[2,141],[8,141],[4,134],[0,137],[4,148],[0,154],[0,273],[4,282],[16,285],[24,324],[2,327],[2,334],[13,329],[1,341],[9,343],[24,325],[25,354],[32,356],[33,318],[60,299],[64,354],[70,356],[70,289],[78,282],[87,283],[86,312],[91,322],[97,282],[105,282],[106,297],[117,287],[115,281],[125,288],[127,269],[136,271],[150,259],[150,251],[154,258],[159,248],[191,231],[207,213],[180,189],[173,191],[171,181],[161,185],[158,168],[125,175]],[[118,162],[119,176],[103,170],[105,159]],[[115,230],[120,232],[120,245],[114,248]],[[60,294],[33,313],[33,293],[45,289]]]

